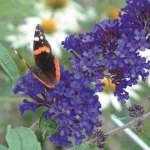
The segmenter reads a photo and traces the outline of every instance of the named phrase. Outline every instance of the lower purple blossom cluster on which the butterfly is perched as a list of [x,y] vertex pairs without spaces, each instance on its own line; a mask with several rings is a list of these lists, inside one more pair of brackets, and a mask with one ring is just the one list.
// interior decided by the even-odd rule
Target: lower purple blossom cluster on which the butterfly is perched
[[[38,107],[47,107],[45,118],[55,118],[58,128],[50,136],[56,145],[68,146],[74,139],[75,144],[90,135],[99,124],[100,103],[94,91],[84,86],[84,80],[76,80],[72,73],[61,67],[61,80],[54,90],[46,90],[31,72],[20,78],[14,93],[23,92],[34,101],[23,100],[19,110],[35,112]],[[40,96],[42,95],[42,97]],[[72,137],[72,138],[71,138]]]

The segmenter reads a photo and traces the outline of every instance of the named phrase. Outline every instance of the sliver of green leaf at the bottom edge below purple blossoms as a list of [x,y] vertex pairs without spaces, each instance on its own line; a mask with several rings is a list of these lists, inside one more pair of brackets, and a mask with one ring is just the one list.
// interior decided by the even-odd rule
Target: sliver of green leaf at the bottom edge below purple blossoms
[[99,150],[99,148],[94,144],[83,143],[81,145],[76,145],[75,150]]

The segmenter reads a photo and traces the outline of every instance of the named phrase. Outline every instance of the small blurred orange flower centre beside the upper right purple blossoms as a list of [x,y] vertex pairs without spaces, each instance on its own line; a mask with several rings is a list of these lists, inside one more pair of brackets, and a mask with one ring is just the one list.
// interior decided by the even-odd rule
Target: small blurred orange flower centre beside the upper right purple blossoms
[[108,11],[108,17],[111,18],[111,19],[118,19],[119,18],[119,16],[118,16],[119,11],[120,11],[120,8],[117,8],[117,7],[111,8]]

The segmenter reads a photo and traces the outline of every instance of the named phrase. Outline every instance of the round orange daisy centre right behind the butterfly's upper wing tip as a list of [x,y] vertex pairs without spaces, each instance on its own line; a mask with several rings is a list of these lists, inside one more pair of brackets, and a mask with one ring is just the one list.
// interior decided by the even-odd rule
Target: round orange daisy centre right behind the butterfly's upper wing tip
[[43,20],[41,22],[41,26],[44,28],[44,31],[46,33],[53,33],[54,31],[56,31],[56,21],[53,19],[47,19],[47,20]]

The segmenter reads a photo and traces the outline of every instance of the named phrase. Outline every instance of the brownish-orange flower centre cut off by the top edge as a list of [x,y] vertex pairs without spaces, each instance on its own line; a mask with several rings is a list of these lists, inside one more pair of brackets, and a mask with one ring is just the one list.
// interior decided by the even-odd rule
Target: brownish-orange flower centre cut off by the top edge
[[57,9],[57,8],[62,8],[67,4],[67,0],[45,0],[46,5],[53,8],[53,9]]

